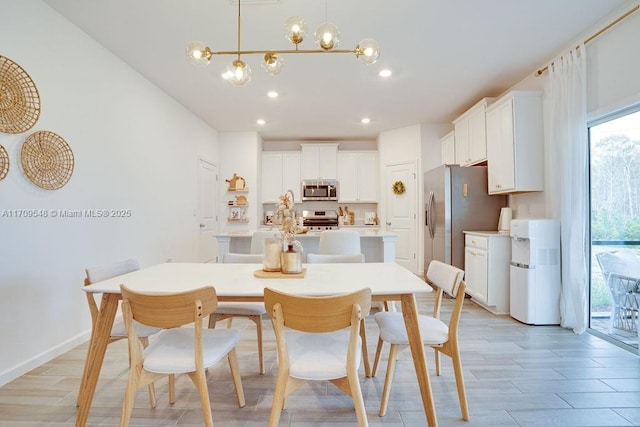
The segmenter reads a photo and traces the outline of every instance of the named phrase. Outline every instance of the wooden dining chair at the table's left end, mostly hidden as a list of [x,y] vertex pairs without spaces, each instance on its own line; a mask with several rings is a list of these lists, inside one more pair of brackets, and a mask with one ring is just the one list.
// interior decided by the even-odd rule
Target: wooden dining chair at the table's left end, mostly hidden
[[[84,279],[84,285],[89,286],[92,283],[99,282],[101,280],[111,279],[112,277],[120,276],[122,274],[131,273],[132,271],[136,271],[140,269],[140,265],[138,261],[135,259],[127,259],[124,261],[115,262],[108,265],[92,267],[85,269],[86,277]],[[95,293],[85,292],[87,297],[87,302],[89,304],[89,312],[91,313],[91,335],[93,336],[93,330],[96,327],[98,322],[98,302],[95,299]],[[136,334],[138,339],[142,343],[143,347],[147,347],[149,345],[149,337],[151,335],[157,334],[160,332],[160,328],[153,328],[146,325],[142,325],[138,322],[135,322]],[[124,321],[122,319],[116,319],[113,323],[113,327],[111,328],[111,333],[108,338],[107,344],[111,344],[113,342],[119,341],[121,339],[127,338],[127,330],[124,326]],[[174,390],[174,382],[173,377],[169,379],[169,394],[173,396]],[[155,389],[153,384],[149,384],[149,403],[151,407],[156,407],[156,397],[155,397]],[[78,396],[79,402],[80,396]]]

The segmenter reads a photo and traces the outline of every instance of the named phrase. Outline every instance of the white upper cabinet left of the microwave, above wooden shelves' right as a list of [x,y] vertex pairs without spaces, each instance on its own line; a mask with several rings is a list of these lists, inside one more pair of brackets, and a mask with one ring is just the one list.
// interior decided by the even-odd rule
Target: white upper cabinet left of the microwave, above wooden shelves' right
[[276,203],[287,190],[300,202],[300,160],[299,151],[262,153],[262,203]]

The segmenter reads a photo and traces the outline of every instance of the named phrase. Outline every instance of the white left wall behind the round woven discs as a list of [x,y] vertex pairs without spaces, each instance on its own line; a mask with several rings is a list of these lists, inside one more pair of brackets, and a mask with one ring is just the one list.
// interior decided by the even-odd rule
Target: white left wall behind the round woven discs
[[[88,338],[84,268],[137,258],[198,259],[197,162],[218,162],[217,132],[40,1],[0,0],[0,54],[38,87],[42,113],[19,135],[0,181],[0,384]],[[42,190],[20,167],[34,131],[63,137],[71,180]],[[47,218],[11,218],[37,209]],[[126,209],[128,218],[53,218]],[[3,212],[5,214],[3,215]]]

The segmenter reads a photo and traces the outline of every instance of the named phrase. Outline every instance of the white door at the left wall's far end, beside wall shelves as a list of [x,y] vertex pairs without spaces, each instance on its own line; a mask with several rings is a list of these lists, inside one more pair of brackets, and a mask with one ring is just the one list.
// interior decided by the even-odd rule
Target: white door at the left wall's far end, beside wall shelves
[[218,254],[218,167],[205,159],[198,159],[198,217],[200,224],[200,261],[215,262]]

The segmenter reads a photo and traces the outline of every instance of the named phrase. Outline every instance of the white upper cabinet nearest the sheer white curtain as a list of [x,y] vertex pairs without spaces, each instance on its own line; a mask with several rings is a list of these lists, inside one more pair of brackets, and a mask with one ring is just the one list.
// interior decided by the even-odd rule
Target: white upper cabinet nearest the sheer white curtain
[[489,194],[544,190],[542,94],[512,91],[487,109]]

